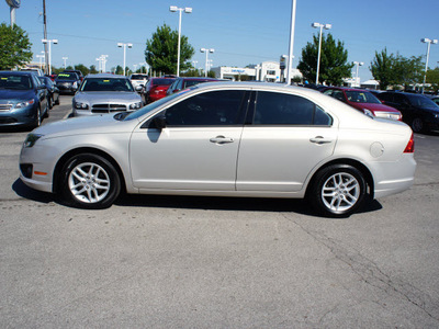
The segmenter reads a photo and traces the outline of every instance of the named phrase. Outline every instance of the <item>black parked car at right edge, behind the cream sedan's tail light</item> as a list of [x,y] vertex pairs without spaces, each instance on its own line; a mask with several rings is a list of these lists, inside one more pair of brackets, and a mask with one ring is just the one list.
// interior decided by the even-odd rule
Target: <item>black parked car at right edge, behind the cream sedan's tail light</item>
[[429,98],[408,92],[387,91],[379,94],[380,100],[403,113],[403,121],[415,133],[439,131],[439,106]]

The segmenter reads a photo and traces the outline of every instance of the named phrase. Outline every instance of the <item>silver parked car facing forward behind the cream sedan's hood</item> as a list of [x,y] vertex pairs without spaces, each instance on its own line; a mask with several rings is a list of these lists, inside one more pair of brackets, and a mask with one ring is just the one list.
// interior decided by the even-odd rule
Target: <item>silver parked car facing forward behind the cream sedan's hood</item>
[[72,99],[74,116],[135,111],[144,103],[125,76],[88,75]]

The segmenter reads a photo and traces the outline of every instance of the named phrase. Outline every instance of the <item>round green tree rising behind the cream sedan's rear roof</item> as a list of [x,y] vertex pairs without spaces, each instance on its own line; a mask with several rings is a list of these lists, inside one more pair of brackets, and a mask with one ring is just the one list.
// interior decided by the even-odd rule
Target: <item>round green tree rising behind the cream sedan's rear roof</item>
[[[302,49],[302,58],[297,69],[301,70],[305,80],[315,81],[318,58],[318,34],[313,35],[313,42],[307,43]],[[348,50],[340,41],[335,41],[329,33],[322,35],[320,66],[318,80],[328,84],[341,84],[342,78],[351,76],[353,64],[348,63]]]

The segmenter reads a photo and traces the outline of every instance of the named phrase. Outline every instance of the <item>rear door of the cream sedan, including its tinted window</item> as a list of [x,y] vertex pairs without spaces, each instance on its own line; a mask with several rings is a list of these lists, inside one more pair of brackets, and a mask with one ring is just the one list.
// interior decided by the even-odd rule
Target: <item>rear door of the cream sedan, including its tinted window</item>
[[258,91],[249,114],[237,191],[300,191],[309,172],[334,152],[338,129],[333,117],[303,97]]

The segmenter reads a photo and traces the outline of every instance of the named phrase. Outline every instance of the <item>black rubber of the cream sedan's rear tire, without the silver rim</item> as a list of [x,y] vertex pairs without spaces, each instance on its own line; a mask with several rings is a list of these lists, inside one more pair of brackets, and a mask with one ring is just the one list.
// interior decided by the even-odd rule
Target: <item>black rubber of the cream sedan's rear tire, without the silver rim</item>
[[[334,212],[329,209],[323,202],[322,189],[329,177],[335,173],[349,173],[353,175],[360,184],[360,195],[357,203],[347,211]],[[315,175],[314,183],[308,193],[309,202],[313,208],[325,217],[349,217],[352,213],[357,212],[364,203],[367,196],[367,182],[363,174],[357,168],[349,164],[331,164],[318,171]]]

